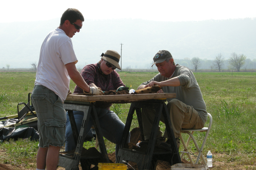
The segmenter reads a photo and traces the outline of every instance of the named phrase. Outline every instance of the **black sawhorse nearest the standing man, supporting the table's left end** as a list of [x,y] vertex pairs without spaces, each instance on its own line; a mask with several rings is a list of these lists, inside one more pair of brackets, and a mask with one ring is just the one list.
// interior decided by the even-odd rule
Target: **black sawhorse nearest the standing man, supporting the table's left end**
[[[60,153],[58,166],[65,167],[66,170],[79,170],[79,161],[83,170],[90,169],[90,164],[96,164],[99,161],[109,162],[108,153],[105,147],[105,143],[102,136],[102,131],[99,125],[99,119],[96,113],[96,108],[90,104],[76,104],[76,103],[64,103],[64,108],[68,111],[70,117],[70,124],[73,130],[73,135],[75,138],[76,150],[73,155],[67,155]],[[76,122],[74,119],[73,111],[83,111],[84,117],[81,125],[81,130],[78,135],[78,130],[76,127]],[[88,125],[90,116],[93,118],[94,128],[96,131],[96,136],[99,141],[99,148],[101,150],[102,156],[100,157],[90,157],[90,156],[81,156],[83,143],[86,136],[85,129]]]

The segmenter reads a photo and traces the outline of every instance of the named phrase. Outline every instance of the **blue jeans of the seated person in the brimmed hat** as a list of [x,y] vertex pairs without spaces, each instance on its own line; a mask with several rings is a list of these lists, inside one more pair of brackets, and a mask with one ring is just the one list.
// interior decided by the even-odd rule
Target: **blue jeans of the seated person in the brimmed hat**
[[[103,108],[96,108],[96,112],[99,119],[99,125],[102,130],[102,135],[108,139],[110,142],[113,142],[116,144],[116,156],[118,154],[119,146],[121,144],[122,139],[122,133],[125,128],[125,124],[119,119],[119,117],[114,113],[113,111],[109,111],[107,109]],[[80,133],[80,128],[82,125],[82,120],[84,117],[84,112],[82,111],[73,111],[76,126],[78,129],[78,132]],[[90,121],[88,123],[88,126],[86,128],[86,133],[89,132],[90,134],[90,128],[93,125],[93,119],[90,116]],[[128,136],[127,143],[130,142],[130,133]],[[67,113],[67,122],[66,122],[66,144],[65,144],[65,151],[70,151],[76,148],[76,144],[73,137],[72,128],[70,125],[69,116]]]

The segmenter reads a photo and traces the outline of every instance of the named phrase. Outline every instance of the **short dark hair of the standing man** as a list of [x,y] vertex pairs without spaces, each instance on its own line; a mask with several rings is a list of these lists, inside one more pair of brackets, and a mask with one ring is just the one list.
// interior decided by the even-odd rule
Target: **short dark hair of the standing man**
[[70,23],[75,23],[76,20],[84,22],[84,16],[79,10],[75,8],[68,8],[61,16],[60,25],[64,24],[65,20],[69,20]]

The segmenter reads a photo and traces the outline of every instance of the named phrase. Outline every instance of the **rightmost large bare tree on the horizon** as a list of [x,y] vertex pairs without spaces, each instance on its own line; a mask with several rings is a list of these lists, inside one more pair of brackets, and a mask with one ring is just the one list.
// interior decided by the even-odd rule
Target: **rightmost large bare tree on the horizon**
[[244,54],[232,53],[229,58],[229,64],[239,72],[240,68],[245,64],[245,59],[246,56]]

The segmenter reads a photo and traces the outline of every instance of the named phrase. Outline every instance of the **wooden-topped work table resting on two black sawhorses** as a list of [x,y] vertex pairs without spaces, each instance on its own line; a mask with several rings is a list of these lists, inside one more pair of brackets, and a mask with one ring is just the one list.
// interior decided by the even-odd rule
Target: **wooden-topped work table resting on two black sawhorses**
[[[147,151],[144,154],[136,153],[136,152],[132,152],[132,154],[129,154],[134,156],[135,158],[140,157],[140,160],[143,159],[144,161],[143,163],[141,164],[137,163],[139,169],[142,168],[143,170],[149,170],[150,168],[151,160],[153,158],[154,143],[156,138],[155,132],[159,125],[161,114],[163,114],[165,118],[166,129],[168,131],[169,136],[171,136],[171,140],[173,142],[172,150],[174,150],[174,153],[178,153],[176,141],[172,131],[172,125],[169,119],[169,113],[165,104],[167,98],[174,98],[174,97],[176,97],[176,94],[173,94],[173,93],[125,94],[125,95],[106,95],[106,96],[85,96],[85,95],[79,95],[79,94],[68,95],[67,99],[64,101],[64,108],[68,111],[68,115],[70,117],[70,125],[72,127],[73,134],[75,137],[75,142],[77,143],[77,145],[76,145],[76,151],[74,152],[73,155],[60,153],[58,166],[65,167],[66,170],[79,170],[78,166],[80,161],[82,169],[87,170],[87,169],[90,169],[91,164],[97,165],[97,162],[99,161],[107,162],[107,163],[109,162],[108,153],[105,147],[105,143],[103,141],[102,131],[99,125],[98,116],[94,106],[96,102],[131,103],[131,107],[128,113],[128,118],[125,124],[125,130],[122,136],[122,144],[120,146],[119,154],[117,156],[117,161],[116,161],[117,163],[122,163],[122,160],[132,161],[132,160],[129,160],[129,156],[124,157],[129,152],[129,150],[124,148],[123,146],[128,136],[128,133],[131,127],[132,115],[134,114],[135,110],[138,116],[141,134],[143,136],[143,126],[142,126],[141,111],[140,111],[141,108],[156,109],[157,114],[156,114],[154,125],[152,128],[151,138],[149,140]],[[84,112],[84,118],[83,118],[81,130],[79,134],[76,128],[76,122],[74,120],[73,111]],[[81,155],[82,149],[83,149],[83,142],[86,136],[85,129],[87,127],[90,116],[93,117],[94,128],[99,141],[99,148],[102,153],[101,157]],[[141,156],[143,158],[141,158]],[[181,162],[179,154],[173,154],[172,162],[174,162],[174,164]]]

